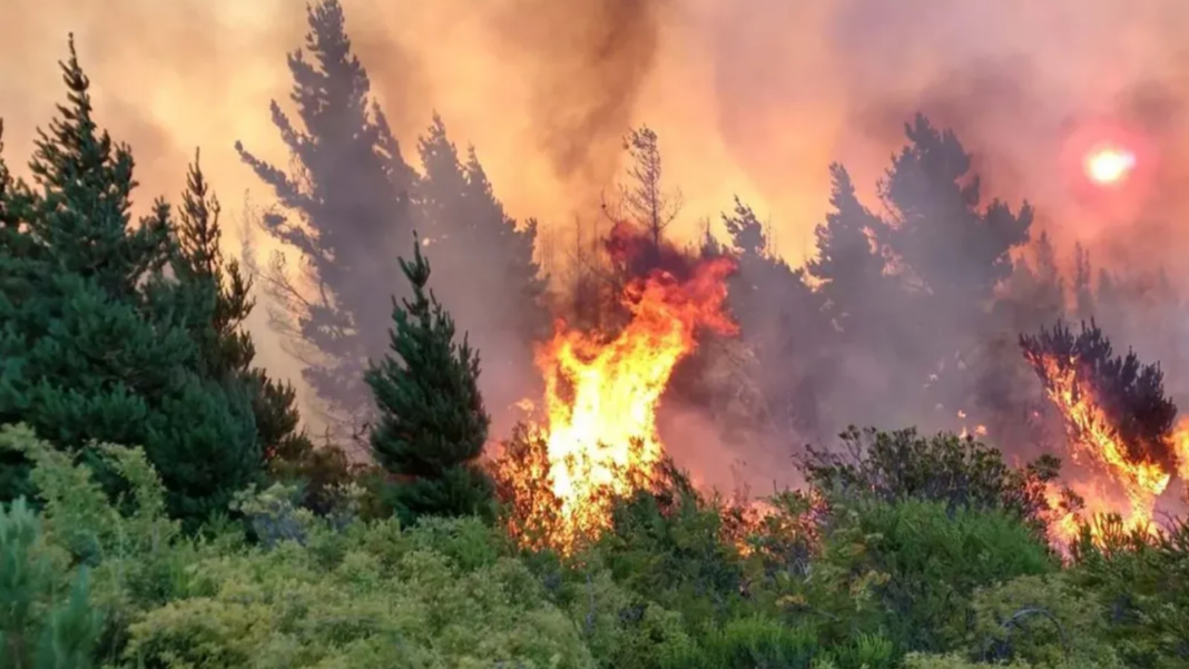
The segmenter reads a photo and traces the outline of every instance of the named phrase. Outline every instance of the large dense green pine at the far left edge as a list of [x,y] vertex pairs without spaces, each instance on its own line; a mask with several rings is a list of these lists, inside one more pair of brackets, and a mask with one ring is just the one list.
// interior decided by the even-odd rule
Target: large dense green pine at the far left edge
[[[130,229],[132,154],[93,120],[73,38],[62,70],[68,102],[39,135],[33,185],[5,196],[24,251],[0,247],[0,423],[86,456],[92,441],[144,447],[193,526],[259,472],[250,397],[201,370],[190,333],[213,303],[164,278],[169,207]],[[6,498],[29,492],[27,462],[6,455],[0,479]]]

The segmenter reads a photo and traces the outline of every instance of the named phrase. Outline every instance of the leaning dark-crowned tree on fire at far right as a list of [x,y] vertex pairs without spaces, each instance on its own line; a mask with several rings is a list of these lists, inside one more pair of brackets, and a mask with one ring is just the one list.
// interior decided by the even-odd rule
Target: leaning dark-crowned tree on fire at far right
[[1176,468],[1177,408],[1159,364],[1144,365],[1133,351],[1115,355],[1094,321],[1076,336],[1058,321],[1021,335],[1020,347],[1064,418],[1075,461],[1088,455],[1107,469],[1131,505],[1127,526],[1149,526]]

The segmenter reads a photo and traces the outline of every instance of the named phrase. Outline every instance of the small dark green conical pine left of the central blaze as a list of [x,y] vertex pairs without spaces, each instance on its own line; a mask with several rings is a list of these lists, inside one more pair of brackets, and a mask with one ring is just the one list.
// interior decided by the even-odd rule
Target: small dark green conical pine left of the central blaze
[[478,465],[490,424],[478,387],[479,355],[465,335],[461,345],[454,341],[453,318],[427,294],[429,263],[420,244],[411,263],[401,258],[401,269],[413,299],[402,308],[394,297],[391,353],[365,377],[378,409],[372,454],[397,478],[391,507],[404,523],[491,517],[495,488]]

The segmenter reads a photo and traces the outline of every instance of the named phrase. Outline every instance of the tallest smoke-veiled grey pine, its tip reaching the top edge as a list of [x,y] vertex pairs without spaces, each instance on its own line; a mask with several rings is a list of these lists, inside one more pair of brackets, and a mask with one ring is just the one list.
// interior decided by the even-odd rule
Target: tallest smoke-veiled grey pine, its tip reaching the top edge
[[262,220],[269,235],[302,254],[304,278],[317,296],[298,289],[283,264],[273,265],[266,288],[281,311],[296,314],[275,326],[307,364],[302,374],[332,422],[358,427],[370,406],[361,381],[365,362],[384,351],[388,327],[373,305],[375,286],[395,279],[385,259],[395,257],[411,233],[409,197],[416,175],[371,99],[371,82],[352,53],[340,2],[310,6],[308,23],[306,51],[289,56],[290,97],[303,128],[276,102],[271,107],[297,164],[295,172],[264,163],[239,143],[235,147],[304,223],[292,225],[277,214]]

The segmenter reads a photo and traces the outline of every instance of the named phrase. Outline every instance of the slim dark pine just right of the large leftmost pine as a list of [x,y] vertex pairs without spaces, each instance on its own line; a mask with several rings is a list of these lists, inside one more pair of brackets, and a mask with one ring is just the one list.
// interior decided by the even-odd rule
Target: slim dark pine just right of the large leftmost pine
[[196,323],[205,373],[232,383],[245,384],[252,397],[252,414],[264,459],[273,473],[303,479],[308,485],[307,501],[325,507],[327,487],[346,475],[341,450],[327,444],[315,449],[300,429],[296,392],[292,386],[271,379],[253,365],[256,347],[244,329],[244,322],[256,304],[252,282],[244,277],[239,263],[226,260],[220,248],[220,206],[202,173],[199,156],[187,179],[182,207],[175,226],[178,244],[174,272],[199,291],[213,296],[214,309],[208,322]]

